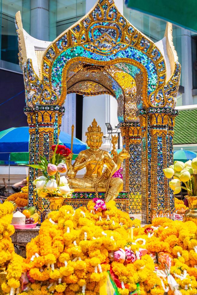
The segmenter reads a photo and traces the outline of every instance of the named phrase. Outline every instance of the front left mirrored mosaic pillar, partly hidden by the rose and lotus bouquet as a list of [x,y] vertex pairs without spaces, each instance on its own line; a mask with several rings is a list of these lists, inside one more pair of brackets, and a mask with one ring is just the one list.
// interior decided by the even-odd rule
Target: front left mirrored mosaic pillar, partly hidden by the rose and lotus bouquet
[[[37,164],[39,155],[45,156],[47,160],[52,157],[51,146],[58,143],[58,135],[61,126],[61,117],[64,115],[64,107],[58,105],[35,105],[34,108],[25,107],[29,124],[30,146],[29,163]],[[42,175],[42,171],[29,167],[29,206],[36,206],[42,210],[42,199],[33,191],[33,180]]]

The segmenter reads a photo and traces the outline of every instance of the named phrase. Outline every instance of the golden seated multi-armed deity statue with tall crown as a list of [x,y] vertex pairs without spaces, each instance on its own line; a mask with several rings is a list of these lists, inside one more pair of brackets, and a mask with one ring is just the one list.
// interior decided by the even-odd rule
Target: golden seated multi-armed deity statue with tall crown
[[[88,127],[86,136],[89,149],[81,151],[74,164],[68,167],[68,183],[71,188],[80,188],[81,191],[93,188],[97,197],[98,189],[102,188],[106,191],[105,201],[114,200],[123,189],[123,180],[118,177],[112,178],[112,175],[120,169],[123,160],[130,155],[125,149],[117,154],[115,145],[111,154],[100,149],[103,132],[101,132],[101,128],[97,125],[95,119],[92,126]],[[83,168],[86,168],[84,177],[75,177],[77,171]]]

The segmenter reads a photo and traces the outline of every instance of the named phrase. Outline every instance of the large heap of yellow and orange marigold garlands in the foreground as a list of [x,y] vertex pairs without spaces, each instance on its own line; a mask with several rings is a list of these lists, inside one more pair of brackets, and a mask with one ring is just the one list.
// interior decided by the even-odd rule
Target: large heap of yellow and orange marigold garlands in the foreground
[[7,294],[197,293],[197,226],[192,221],[156,218],[141,227],[114,201],[94,199],[87,208],[66,205],[49,213],[26,249],[23,262],[16,254],[8,264],[2,284]]

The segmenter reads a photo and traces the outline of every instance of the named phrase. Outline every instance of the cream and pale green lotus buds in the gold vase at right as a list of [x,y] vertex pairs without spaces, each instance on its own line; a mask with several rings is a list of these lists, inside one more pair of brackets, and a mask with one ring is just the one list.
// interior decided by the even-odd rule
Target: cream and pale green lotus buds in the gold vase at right
[[[173,179],[169,182],[174,194],[179,194],[181,188],[186,189],[189,196],[197,196],[197,157],[186,163],[175,161],[174,165],[164,169],[167,178]],[[185,187],[181,186],[181,182]]]

